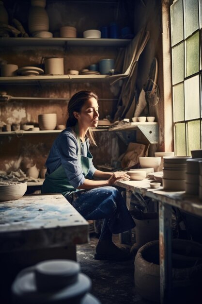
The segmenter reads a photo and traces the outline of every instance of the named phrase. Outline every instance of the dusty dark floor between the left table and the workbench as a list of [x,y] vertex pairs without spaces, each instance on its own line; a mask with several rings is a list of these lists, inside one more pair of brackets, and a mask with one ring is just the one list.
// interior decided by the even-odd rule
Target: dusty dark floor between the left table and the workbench
[[[124,262],[98,261],[94,259],[98,239],[90,237],[90,243],[77,246],[77,259],[81,272],[92,280],[91,294],[101,304],[154,304],[144,300],[135,291],[134,259]],[[119,246],[117,237],[114,242]]]

